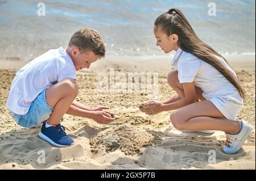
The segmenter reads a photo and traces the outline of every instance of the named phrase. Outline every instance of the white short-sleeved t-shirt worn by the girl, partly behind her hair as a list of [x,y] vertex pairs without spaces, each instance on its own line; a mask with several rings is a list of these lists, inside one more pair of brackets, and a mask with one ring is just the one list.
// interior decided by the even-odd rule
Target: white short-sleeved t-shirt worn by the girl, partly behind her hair
[[[236,73],[230,66],[218,57],[237,78]],[[240,92],[222,75],[217,69],[207,62],[200,60],[191,53],[184,52],[180,48],[171,60],[178,71],[178,79],[180,83],[194,82],[195,86],[203,90],[203,96],[209,100],[212,98],[225,98],[232,100],[238,104],[242,104]]]

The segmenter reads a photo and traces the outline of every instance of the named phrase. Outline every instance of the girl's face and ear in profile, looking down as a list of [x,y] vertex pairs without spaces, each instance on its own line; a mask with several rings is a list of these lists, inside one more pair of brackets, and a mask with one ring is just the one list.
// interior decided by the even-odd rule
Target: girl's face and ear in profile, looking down
[[177,50],[179,47],[177,46],[178,36],[176,34],[172,34],[167,36],[161,28],[154,27],[154,34],[156,37],[156,46],[162,48],[164,53],[170,53],[172,50]]

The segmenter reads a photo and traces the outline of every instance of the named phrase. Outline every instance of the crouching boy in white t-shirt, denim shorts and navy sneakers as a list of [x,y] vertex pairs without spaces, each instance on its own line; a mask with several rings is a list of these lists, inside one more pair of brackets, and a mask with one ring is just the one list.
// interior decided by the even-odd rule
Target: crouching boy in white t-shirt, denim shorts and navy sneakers
[[90,64],[104,56],[100,33],[87,28],[75,32],[68,48],[51,49],[18,70],[7,100],[11,116],[22,127],[43,123],[39,137],[59,147],[73,144],[60,125],[65,113],[98,123],[112,122],[113,114],[103,111],[108,107],[90,108],[75,101],[79,91],[76,71],[89,69]]

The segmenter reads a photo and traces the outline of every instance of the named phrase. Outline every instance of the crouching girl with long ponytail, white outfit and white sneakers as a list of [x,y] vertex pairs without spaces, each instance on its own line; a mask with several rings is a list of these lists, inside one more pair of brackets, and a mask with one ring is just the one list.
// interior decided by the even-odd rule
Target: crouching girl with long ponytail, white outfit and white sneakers
[[140,110],[148,115],[175,110],[170,120],[181,131],[224,131],[223,151],[237,153],[253,127],[244,120],[235,121],[245,92],[234,70],[197,37],[180,10],[170,9],[160,15],[154,34],[164,53],[176,51],[171,61],[176,70],[167,79],[177,94],[164,102],[148,102]]

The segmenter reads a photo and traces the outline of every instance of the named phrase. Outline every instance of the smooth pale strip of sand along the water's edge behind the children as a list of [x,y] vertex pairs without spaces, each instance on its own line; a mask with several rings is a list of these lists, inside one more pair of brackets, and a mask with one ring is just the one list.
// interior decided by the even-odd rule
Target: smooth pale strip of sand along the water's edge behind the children
[[[90,69],[82,71],[106,71],[109,68],[126,67],[129,71],[170,71],[170,61],[174,54],[163,56],[108,56],[96,61]],[[255,54],[228,54],[224,55],[234,70],[254,70]],[[28,62],[22,60],[0,59],[0,69],[18,70]]]

